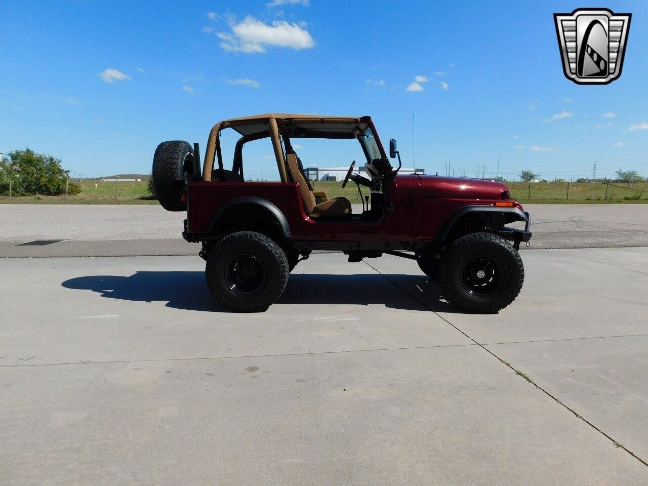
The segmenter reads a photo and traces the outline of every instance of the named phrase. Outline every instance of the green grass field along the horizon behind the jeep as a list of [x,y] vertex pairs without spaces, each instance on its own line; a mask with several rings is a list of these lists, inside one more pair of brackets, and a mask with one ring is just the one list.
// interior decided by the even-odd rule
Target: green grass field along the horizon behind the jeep
[[[114,182],[81,181],[82,191],[73,196],[21,196],[9,198],[0,196],[0,203],[26,204],[157,204],[150,199],[146,180],[141,182],[120,182],[115,188]],[[96,187],[95,187],[96,184]],[[511,182],[511,197],[522,203],[648,203],[648,183],[605,184],[605,183],[571,183],[569,197],[567,183],[537,182],[531,183],[529,198],[529,183]],[[315,191],[326,191],[329,198],[344,196],[353,203],[360,203],[358,189],[350,183],[342,189],[340,182],[313,183]],[[116,189],[116,190],[115,190]],[[607,189],[607,197],[606,197]],[[367,188],[362,194],[368,195]],[[119,196],[119,198],[118,198]]]

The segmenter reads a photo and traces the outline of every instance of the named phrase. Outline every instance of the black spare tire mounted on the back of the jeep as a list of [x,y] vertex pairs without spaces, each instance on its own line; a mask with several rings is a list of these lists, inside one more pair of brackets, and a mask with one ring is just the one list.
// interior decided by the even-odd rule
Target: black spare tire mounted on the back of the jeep
[[167,211],[185,211],[180,192],[185,188],[187,176],[192,176],[194,151],[185,141],[162,142],[153,156],[153,184],[157,200]]

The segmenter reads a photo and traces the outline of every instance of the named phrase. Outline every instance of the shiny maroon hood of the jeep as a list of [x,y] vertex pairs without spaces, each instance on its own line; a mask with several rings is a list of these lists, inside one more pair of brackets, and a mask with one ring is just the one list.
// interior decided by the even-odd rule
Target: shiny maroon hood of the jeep
[[487,179],[417,176],[421,179],[423,198],[502,199],[502,192],[509,191],[506,184]]

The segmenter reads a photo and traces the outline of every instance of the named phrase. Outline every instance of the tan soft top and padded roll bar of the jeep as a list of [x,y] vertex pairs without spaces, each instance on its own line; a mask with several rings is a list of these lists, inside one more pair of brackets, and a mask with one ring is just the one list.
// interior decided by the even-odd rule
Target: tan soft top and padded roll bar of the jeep
[[369,121],[371,121],[369,117],[323,117],[320,115],[266,113],[218,122],[209,132],[205,149],[203,181],[212,180],[214,160],[217,152],[220,152],[218,133],[225,128],[233,128],[241,135],[251,135],[267,130],[272,139],[279,176],[282,181],[286,182],[288,176],[286,175],[286,160],[279,138],[280,126],[281,131],[286,132],[290,137],[355,138],[358,133],[367,128]]

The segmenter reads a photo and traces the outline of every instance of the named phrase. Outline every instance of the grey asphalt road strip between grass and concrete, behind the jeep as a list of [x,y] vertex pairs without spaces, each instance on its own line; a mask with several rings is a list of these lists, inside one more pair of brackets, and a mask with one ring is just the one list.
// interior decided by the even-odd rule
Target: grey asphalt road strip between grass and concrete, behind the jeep
[[[648,246],[648,205],[528,205],[531,248]],[[357,211],[358,209],[354,209]],[[0,257],[195,255],[157,205],[0,205]],[[16,246],[64,240],[48,246]]]

